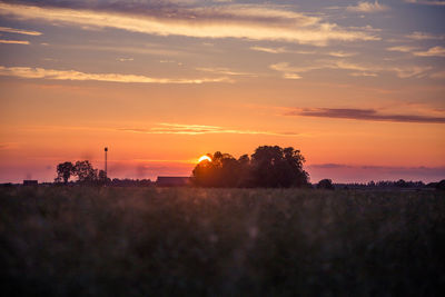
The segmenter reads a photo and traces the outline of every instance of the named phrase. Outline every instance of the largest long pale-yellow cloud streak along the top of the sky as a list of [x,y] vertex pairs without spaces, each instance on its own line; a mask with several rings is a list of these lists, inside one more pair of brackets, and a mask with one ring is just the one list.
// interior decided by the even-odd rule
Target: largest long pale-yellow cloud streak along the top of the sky
[[[96,1],[93,1],[96,2]],[[332,40],[379,40],[367,30],[346,29],[278,6],[222,4],[214,7],[137,8],[138,2],[109,3],[106,8],[89,2],[27,6],[0,3],[0,16],[20,20],[41,20],[50,23],[113,28],[157,36],[186,36],[194,38],[238,38],[249,40],[280,40],[314,46],[326,46]],[[78,9],[69,8],[76,7]],[[123,7],[119,7],[123,6]],[[171,4],[170,4],[171,6]],[[67,8],[68,7],[68,8]],[[120,8],[120,10],[119,10]],[[95,9],[95,11],[92,10]],[[115,10],[113,10],[115,9]]]

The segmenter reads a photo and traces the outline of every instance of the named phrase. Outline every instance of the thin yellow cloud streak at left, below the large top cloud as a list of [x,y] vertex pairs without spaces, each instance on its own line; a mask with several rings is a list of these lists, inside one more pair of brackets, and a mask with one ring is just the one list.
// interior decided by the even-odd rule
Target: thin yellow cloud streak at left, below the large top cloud
[[86,73],[76,70],[55,70],[30,67],[3,67],[0,66],[0,76],[29,78],[29,79],[55,79],[77,81],[108,81],[108,82],[138,82],[138,83],[204,83],[204,82],[229,82],[228,78],[197,78],[197,79],[172,79],[151,78],[136,75],[119,73]]

